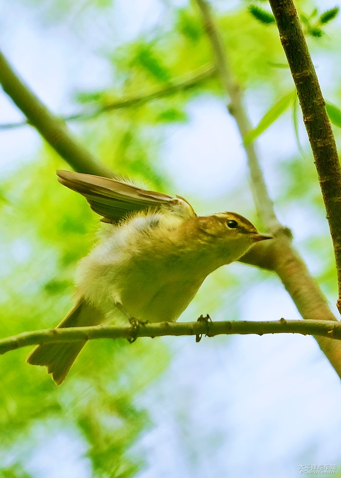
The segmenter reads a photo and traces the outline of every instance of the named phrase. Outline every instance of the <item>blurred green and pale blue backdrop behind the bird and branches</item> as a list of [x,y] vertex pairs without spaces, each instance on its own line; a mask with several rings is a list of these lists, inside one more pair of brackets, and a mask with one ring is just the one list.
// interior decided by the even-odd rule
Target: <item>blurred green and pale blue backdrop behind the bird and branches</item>
[[[297,3],[307,15],[335,6]],[[257,124],[293,88],[280,67],[278,33],[252,17],[245,1],[213,6]],[[0,7],[1,49],[60,116],[166,88],[212,60],[195,4],[185,0],[0,0]],[[336,105],[340,32],[336,19],[322,37],[308,37],[324,95]],[[68,124],[118,173],[180,194],[200,214],[234,210],[262,227],[226,101],[212,79]],[[70,167],[31,127],[9,127],[22,119],[1,94],[1,337],[65,316],[76,262],[98,223],[83,198],[57,183],[55,170]],[[278,217],[336,313],[332,244],[301,123],[300,147],[288,108],[258,149]],[[340,141],[338,128],[335,134]],[[279,279],[240,263],[212,274],[180,320],[206,313],[213,320],[299,318]],[[60,387],[26,364],[27,354],[0,358],[1,477],[289,478],[303,464],[341,462],[340,379],[311,337],[96,340]]]

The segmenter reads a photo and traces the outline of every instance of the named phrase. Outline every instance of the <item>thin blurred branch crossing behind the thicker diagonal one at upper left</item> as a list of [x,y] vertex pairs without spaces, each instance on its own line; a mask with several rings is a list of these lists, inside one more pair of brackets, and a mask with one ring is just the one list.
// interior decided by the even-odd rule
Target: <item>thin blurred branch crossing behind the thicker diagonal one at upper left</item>
[[[141,104],[148,103],[152,100],[158,100],[161,98],[167,98],[168,96],[175,95],[181,91],[187,91],[191,88],[198,86],[201,83],[213,78],[216,75],[216,69],[213,66],[208,66],[205,68],[200,68],[198,72],[193,72],[189,78],[186,80],[174,80],[171,81],[166,88],[161,88],[155,91],[151,91],[144,95],[133,96],[128,98],[123,98],[113,103],[106,104],[100,108],[96,108],[93,111],[83,111],[81,113],[75,113],[73,115],[67,115],[59,117],[59,120],[62,121],[75,121],[75,120],[86,120],[97,118],[98,116],[109,113],[110,111],[129,108],[131,106],[138,106]],[[0,130],[7,130],[18,128],[21,126],[27,126],[31,124],[30,121],[18,121],[15,123],[2,123],[0,124]]]

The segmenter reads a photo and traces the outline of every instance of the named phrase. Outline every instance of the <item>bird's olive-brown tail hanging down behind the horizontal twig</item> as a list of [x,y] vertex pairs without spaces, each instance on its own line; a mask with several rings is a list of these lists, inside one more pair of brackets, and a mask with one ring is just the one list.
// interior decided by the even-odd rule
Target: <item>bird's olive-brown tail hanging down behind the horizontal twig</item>
[[[103,315],[100,311],[84,299],[80,299],[57,327],[83,327],[98,325],[102,321]],[[86,340],[41,344],[31,352],[27,362],[32,365],[45,365],[47,372],[52,374],[54,381],[60,385],[85,343]]]

